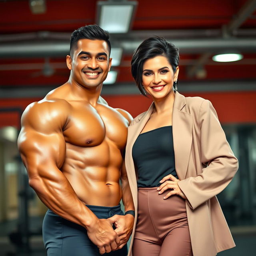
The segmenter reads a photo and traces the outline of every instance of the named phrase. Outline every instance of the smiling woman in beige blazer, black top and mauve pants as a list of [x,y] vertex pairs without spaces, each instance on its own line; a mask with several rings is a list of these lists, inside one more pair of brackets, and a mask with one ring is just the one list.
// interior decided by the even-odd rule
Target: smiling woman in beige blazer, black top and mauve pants
[[129,256],[214,256],[235,246],[216,194],[238,162],[211,102],[177,92],[178,62],[178,49],[159,37],[132,57],[132,76],[153,103],[128,128],[137,222]]

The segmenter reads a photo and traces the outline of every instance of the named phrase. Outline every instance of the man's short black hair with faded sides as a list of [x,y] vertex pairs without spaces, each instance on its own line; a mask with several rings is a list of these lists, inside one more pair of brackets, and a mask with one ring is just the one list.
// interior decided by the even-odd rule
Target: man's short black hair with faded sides
[[109,32],[103,30],[98,25],[88,25],[78,28],[71,34],[70,38],[70,56],[73,55],[74,50],[77,48],[77,42],[80,39],[90,39],[90,40],[104,40],[108,44],[109,55],[111,51],[111,45],[109,41]]

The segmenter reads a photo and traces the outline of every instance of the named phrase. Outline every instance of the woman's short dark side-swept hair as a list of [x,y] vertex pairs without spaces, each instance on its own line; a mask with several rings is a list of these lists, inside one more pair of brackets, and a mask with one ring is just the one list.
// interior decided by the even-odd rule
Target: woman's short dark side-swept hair
[[146,92],[142,86],[143,64],[146,60],[156,56],[165,56],[172,66],[173,72],[176,72],[180,60],[178,48],[164,38],[153,36],[144,40],[132,55],[132,76],[144,96],[146,96]]

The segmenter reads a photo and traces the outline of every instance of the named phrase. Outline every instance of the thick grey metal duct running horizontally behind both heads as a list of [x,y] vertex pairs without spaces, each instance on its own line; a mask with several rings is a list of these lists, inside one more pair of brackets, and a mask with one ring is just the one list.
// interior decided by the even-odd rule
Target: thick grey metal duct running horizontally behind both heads
[[[200,38],[200,39],[170,39],[181,53],[201,53],[205,51],[219,52],[226,50],[240,50],[242,52],[256,52],[256,38]],[[118,45],[126,53],[132,53],[142,40],[118,40],[112,41],[112,45]],[[57,57],[69,54],[69,42],[67,40],[20,42],[0,44],[0,58],[12,57]]]

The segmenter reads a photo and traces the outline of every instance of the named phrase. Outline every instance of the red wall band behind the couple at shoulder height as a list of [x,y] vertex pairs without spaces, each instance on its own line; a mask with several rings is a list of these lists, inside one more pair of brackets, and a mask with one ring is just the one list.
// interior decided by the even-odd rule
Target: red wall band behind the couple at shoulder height
[[[256,123],[256,92],[211,92],[184,93],[185,96],[200,96],[212,102],[221,123]],[[123,108],[133,117],[146,111],[152,100],[141,95],[103,96],[114,108]],[[40,98],[4,99],[0,108],[21,108]],[[16,112],[0,112],[1,126],[19,126],[19,115]]]

